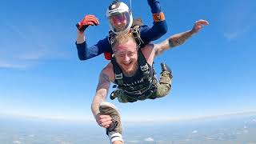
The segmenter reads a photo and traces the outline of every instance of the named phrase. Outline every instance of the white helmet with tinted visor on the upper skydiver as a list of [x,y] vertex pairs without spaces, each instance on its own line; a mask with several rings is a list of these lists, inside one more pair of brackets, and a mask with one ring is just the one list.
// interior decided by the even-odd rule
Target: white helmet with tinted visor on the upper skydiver
[[124,2],[114,1],[106,10],[106,18],[114,34],[128,32],[133,24],[133,16]]

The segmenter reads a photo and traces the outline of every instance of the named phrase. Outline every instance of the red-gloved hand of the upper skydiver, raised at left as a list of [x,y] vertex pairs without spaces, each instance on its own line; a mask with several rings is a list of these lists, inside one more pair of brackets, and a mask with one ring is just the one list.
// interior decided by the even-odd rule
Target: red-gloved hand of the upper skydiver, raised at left
[[76,24],[79,31],[84,32],[88,26],[98,26],[98,18],[94,15],[88,14],[85,18],[82,19],[81,22]]

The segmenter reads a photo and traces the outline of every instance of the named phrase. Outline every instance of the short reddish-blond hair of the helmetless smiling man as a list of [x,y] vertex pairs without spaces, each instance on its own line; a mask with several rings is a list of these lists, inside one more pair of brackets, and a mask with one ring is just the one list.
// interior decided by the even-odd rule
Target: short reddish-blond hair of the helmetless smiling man
[[134,37],[132,36],[132,34],[130,34],[130,33],[125,33],[125,34],[118,34],[118,35],[115,35],[115,36],[114,36],[114,42],[113,42],[113,47],[112,47],[112,49],[114,50],[114,46],[119,45],[119,44],[126,43],[126,42],[128,42],[130,39],[131,39],[133,42],[135,42],[135,44],[136,44],[136,46],[137,46],[137,43],[136,43]]

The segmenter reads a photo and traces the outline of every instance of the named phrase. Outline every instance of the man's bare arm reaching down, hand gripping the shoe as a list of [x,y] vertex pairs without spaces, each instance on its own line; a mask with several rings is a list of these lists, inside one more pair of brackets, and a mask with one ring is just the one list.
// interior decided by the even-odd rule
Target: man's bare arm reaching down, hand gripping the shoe
[[102,70],[99,80],[98,80],[98,86],[96,90],[96,94],[94,96],[94,100],[91,104],[91,110],[94,114],[94,118],[99,126],[102,127],[109,127],[111,124],[111,118],[110,115],[102,115],[99,112],[98,106],[100,102],[104,102],[106,100],[106,95],[108,93],[108,90],[110,88],[110,78],[109,75],[106,73],[106,68]]

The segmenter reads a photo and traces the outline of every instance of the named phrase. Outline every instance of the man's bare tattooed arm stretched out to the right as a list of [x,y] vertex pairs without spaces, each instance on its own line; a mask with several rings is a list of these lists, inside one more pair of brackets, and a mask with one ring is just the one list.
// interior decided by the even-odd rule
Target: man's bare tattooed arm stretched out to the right
[[170,36],[170,38],[167,38],[165,41],[155,44],[155,55],[157,56],[158,54],[162,54],[164,50],[168,50],[175,46],[182,45],[193,34],[198,33],[198,31],[202,29],[202,26],[207,26],[208,24],[209,23],[206,20],[198,20],[194,23],[194,27],[192,30],[188,30],[180,34],[174,34]]

